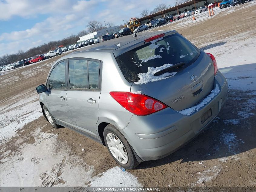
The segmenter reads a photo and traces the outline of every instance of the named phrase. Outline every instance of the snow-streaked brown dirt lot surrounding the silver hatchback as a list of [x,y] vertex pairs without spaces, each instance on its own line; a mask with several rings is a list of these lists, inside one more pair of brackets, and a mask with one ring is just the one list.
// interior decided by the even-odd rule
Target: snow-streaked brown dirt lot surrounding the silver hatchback
[[[56,56],[0,72],[0,186],[256,186],[255,1],[171,22],[212,53],[228,79],[226,105],[207,130],[161,160],[122,172],[106,147],[67,128],[52,129],[35,87]],[[246,16],[245,16],[246,15]],[[84,149],[82,151],[82,149]]]

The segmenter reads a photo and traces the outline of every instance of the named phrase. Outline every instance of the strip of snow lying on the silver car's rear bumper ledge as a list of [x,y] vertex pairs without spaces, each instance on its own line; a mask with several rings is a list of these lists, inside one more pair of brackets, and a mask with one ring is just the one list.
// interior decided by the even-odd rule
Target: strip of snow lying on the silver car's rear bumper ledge
[[192,113],[194,113],[195,111],[198,111],[200,108],[202,108],[207,103],[209,103],[211,99],[214,98],[214,96],[216,96],[219,92],[220,92],[219,86],[218,84],[216,84],[215,89],[211,90],[211,93],[208,96],[206,96],[201,102],[199,102],[197,105],[188,109],[184,109],[182,111],[178,111],[178,112],[180,112],[183,115],[190,116]]

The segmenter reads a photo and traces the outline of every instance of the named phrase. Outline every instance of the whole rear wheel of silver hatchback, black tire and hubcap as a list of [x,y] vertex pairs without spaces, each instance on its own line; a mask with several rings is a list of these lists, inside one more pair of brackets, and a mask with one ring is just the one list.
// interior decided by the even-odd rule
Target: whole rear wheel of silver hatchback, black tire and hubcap
[[[112,156],[112,158],[123,168],[125,169],[134,169],[135,167],[137,167],[139,165],[139,162],[137,161],[130,144],[128,143],[128,141],[125,139],[125,137],[122,135],[122,133],[113,125],[109,124],[105,127],[104,131],[103,131],[103,136],[104,136],[104,141],[106,144],[106,147],[108,149],[108,152],[110,153],[110,155]],[[113,136],[113,137],[112,137]],[[112,138],[112,142],[110,140],[110,138]],[[119,143],[119,141],[121,143]],[[111,145],[115,145],[113,146],[113,150],[110,151],[109,146],[111,147]],[[121,146],[121,147],[120,147]],[[120,147],[120,149],[118,148]],[[118,159],[115,158],[115,152],[119,152],[118,155],[118,159],[121,160],[121,163]],[[124,152],[124,153],[123,153]],[[114,155],[113,155],[114,153]],[[123,157],[120,158],[120,153],[123,155],[123,157],[126,157],[127,159],[124,159]]]

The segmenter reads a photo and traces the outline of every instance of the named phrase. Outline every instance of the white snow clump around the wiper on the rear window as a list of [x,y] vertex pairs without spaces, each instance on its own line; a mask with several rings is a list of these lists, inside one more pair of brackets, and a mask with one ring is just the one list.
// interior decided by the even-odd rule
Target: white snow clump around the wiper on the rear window
[[168,67],[172,66],[172,64],[165,64],[163,66],[160,67],[148,67],[148,72],[147,73],[139,73],[138,77],[140,78],[140,80],[138,82],[135,82],[136,85],[138,84],[146,84],[148,82],[154,82],[154,81],[159,81],[161,79],[166,79],[168,77],[172,77],[174,76],[177,72],[171,72],[171,73],[164,73],[162,75],[159,76],[154,76],[154,74],[158,71],[161,71],[163,69],[166,69]]

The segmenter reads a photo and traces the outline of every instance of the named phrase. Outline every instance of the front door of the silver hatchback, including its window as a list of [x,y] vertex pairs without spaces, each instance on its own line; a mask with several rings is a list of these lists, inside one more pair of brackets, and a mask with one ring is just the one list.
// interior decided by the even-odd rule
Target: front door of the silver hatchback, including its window
[[47,80],[49,94],[46,102],[55,120],[71,126],[74,121],[67,106],[66,60],[58,62]]

